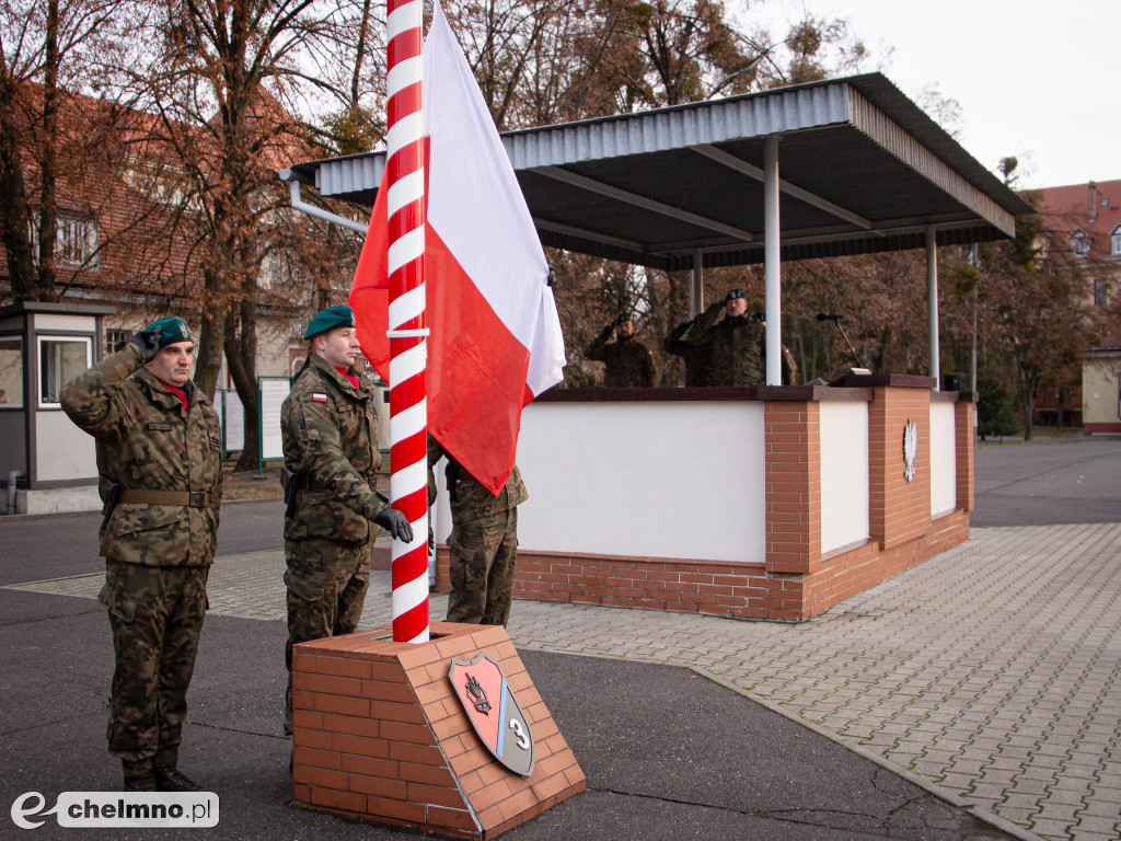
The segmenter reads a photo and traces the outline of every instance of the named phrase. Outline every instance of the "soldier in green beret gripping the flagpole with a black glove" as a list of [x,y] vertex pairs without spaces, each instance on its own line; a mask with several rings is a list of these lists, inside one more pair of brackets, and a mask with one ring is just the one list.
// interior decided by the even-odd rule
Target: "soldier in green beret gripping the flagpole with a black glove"
[[[352,634],[370,582],[378,526],[410,543],[405,516],[377,492],[378,409],[373,383],[354,369],[354,311],[333,306],[307,325],[304,369],[280,408],[284,436],[284,580],[288,588],[288,691],[285,732],[291,733],[291,647]],[[371,525],[371,520],[377,525]]]

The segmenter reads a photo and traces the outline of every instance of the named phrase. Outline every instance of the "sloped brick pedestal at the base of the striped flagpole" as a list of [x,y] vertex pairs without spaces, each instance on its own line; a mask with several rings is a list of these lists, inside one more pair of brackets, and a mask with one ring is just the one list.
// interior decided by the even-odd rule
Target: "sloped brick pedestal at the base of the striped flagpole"
[[[506,629],[389,626],[293,649],[293,796],[313,808],[462,838],[494,838],[584,791],[584,773]],[[534,734],[529,777],[479,740],[447,678],[452,659],[501,666]]]

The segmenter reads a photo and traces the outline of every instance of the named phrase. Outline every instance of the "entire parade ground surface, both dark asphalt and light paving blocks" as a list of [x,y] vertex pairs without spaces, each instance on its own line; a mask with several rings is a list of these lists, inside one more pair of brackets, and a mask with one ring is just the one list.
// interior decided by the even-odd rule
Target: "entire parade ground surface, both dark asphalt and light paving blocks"
[[[983,444],[974,525],[1036,518],[1036,526],[980,528],[970,544],[800,626],[518,602],[511,638],[589,791],[506,837],[1117,839],[1121,660],[1110,640],[1121,535],[1051,524],[1057,516],[1121,521],[1119,459],[1117,440]],[[182,763],[219,792],[220,826],[99,835],[47,819],[24,831],[4,808],[0,837],[409,834],[287,805],[282,585],[272,581],[282,557],[261,545],[276,540],[277,515],[271,501],[223,510],[211,588],[219,614],[207,618]],[[91,515],[0,519],[0,586],[20,588],[0,589],[0,801],[8,806],[30,791],[53,803],[61,792],[119,785],[103,741],[112,656],[104,612],[92,601],[96,523]],[[939,573],[961,579],[974,570],[992,580],[989,589],[970,586],[955,600]],[[1010,586],[1022,598],[994,611]],[[376,589],[364,625],[388,616],[388,594]],[[432,610],[442,614],[438,599]],[[948,639],[944,625],[954,628]],[[939,646],[951,665],[928,654]],[[896,657],[862,688],[845,665],[860,662],[861,648],[876,663]],[[874,671],[864,663],[858,676]],[[980,688],[953,713],[961,699],[946,678],[962,668],[969,674],[957,688],[971,681]],[[1056,687],[1055,697],[1040,684]],[[1044,709],[1018,706],[1019,690]],[[1086,692],[1096,700],[1083,704]],[[833,718],[842,713],[839,726]],[[1039,730],[1029,739],[1031,727]],[[1074,747],[1056,748],[1054,737],[1068,730]],[[1017,754],[1021,739],[1035,747]],[[942,770],[939,754],[947,755]]]

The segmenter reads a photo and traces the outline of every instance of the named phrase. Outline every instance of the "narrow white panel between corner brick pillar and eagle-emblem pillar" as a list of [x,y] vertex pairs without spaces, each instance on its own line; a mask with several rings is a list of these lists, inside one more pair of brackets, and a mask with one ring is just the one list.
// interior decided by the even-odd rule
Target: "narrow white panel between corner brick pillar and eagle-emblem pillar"
[[868,403],[819,407],[824,554],[869,537]]

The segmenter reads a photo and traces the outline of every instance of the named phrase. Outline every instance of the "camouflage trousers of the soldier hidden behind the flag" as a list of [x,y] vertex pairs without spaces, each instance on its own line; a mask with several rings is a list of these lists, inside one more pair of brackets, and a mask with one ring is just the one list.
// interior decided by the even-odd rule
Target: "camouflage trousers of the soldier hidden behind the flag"
[[518,509],[465,524],[455,523],[453,515],[447,551],[452,577],[447,621],[506,626],[518,564]]

